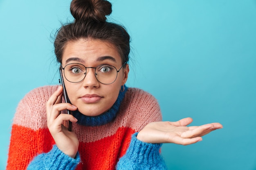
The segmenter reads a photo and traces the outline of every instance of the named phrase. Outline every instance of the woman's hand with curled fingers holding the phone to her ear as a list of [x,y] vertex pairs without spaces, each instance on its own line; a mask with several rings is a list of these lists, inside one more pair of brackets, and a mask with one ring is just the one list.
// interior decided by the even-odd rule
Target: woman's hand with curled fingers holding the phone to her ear
[[76,134],[68,130],[67,122],[77,122],[77,119],[61,111],[65,109],[75,111],[77,107],[70,103],[62,103],[62,96],[63,87],[60,86],[46,102],[47,126],[56,146],[63,153],[74,158],[78,151],[79,141]]

